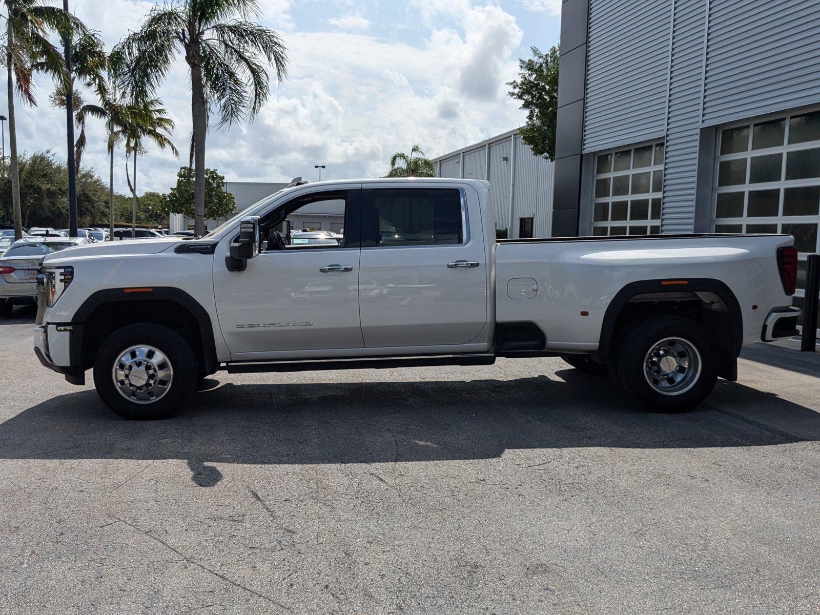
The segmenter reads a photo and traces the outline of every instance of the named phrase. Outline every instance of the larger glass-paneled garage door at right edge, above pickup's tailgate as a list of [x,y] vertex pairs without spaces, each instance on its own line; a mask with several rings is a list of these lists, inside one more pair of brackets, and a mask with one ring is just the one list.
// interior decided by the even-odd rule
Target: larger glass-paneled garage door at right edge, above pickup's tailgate
[[722,129],[714,175],[715,232],[794,235],[802,297],[820,249],[820,111]]

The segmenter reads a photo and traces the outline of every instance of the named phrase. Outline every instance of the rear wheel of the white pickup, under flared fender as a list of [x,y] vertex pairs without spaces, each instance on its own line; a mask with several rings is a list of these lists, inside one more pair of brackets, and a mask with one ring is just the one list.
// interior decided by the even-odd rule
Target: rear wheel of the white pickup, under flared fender
[[[676,357],[677,353],[681,356],[680,359],[673,358],[672,362],[686,361],[688,367],[681,364],[669,372],[661,370],[672,376],[658,378],[647,371],[646,366],[652,358],[649,358],[650,363],[647,360],[649,352],[665,339],[672,341],[663,346],[661,355],[656,353],[654,356],[663,356],[663,352],[672,348]],[[687,353],[686,344],[696,352]],[[655,362],[657,364],[657,359]],[[699,369],[695,367],[698,364]],[[626,333],[612,367],[613,376],[622,390],[653,412],[686,412],[695,408],[712,392],[717,381],[717,353],[708,331],[695,321],[676,316],[651,317],[636,323]],[[681,369],[683,376],[680,376]],[[681,384],[670,385],[676,376],[683,379]],[[681,388],[676,391],[676,386]],[[663,387],[669,387],[669,392],[659,392]]]

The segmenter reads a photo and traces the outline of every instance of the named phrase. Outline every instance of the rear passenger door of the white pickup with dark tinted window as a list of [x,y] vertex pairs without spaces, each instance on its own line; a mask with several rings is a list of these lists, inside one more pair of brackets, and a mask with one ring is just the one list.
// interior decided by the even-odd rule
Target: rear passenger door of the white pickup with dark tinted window
[[463,187],[404,186],[362,190],[365,345],[468,344],[487,321],[480,212],[470,221]]

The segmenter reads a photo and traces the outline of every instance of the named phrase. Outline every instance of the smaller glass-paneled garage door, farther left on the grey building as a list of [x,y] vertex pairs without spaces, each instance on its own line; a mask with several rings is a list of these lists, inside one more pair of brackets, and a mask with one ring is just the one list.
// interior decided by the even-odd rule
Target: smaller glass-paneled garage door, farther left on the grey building
[[595,156],[592,235],[658,235],[663,141]]

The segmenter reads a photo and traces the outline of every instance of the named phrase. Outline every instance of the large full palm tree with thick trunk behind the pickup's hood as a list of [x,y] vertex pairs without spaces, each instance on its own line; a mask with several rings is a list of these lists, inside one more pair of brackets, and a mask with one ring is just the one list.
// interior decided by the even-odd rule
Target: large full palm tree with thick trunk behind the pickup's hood
[[139,32],[117,48],[127,58],[122,83],[130,93],[152,93],[181,52],[191,76],[194,125],[194,233],[205,233],[205,136],[218,126],[252,120],[270,94],[268,66],[281,83],[287,50],[279,35],[249,21],[257,0],[180,0],[154,7]]

